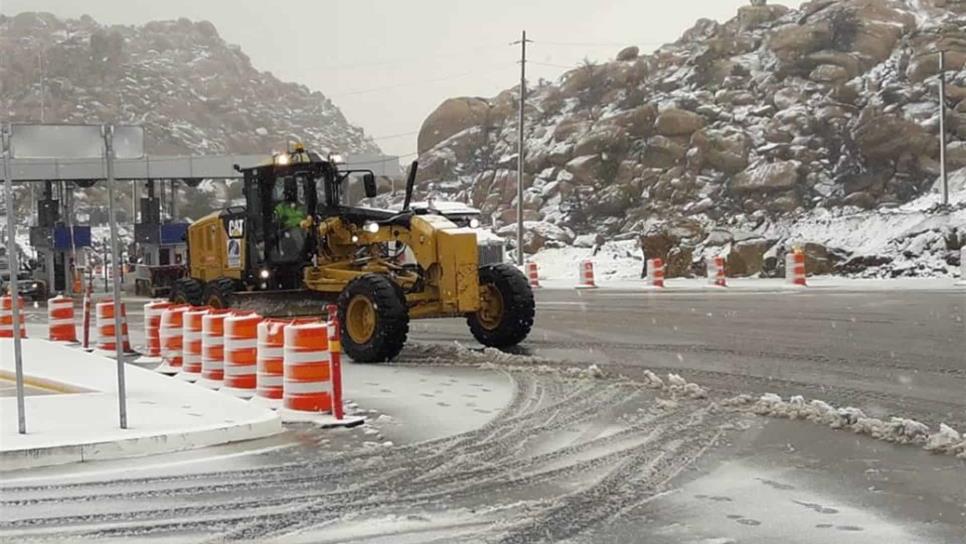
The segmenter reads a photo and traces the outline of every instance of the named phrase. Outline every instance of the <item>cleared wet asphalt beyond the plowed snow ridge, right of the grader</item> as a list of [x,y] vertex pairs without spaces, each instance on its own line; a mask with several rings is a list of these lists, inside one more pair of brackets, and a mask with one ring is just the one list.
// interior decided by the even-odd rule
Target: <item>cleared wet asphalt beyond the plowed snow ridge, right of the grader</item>
[[[459,320],[411,338],[465,342]],[[966,428],[966,289],[777,293],[544,290],[521,353],[722,393],[803,394]]]

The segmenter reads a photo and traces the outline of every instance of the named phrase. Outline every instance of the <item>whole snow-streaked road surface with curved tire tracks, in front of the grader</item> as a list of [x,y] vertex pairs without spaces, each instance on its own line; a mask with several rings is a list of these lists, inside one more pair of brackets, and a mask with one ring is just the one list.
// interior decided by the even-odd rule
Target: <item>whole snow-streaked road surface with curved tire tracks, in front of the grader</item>
[[[414,322],[393,377],[367,385],[391,391],[380,408],[398,423],[397,392],[465,387],[450,397],[469,401],[483,391],[472,373],[503,374],[509,402],[482,427],[293,427],[164,459],[4,475],[0,539],[966,541],[966,461],[717,403],[802,394],[966,429],[964,290],[542,290],[515,355],[455,342],[479,348],[461,320]],[[480,362],[491,364],[453,368]],[[564,370],[590,364],[607,377]],[[711,398],[662,398],[636,381],[644,369],[680,373]],[[433,375],[438,390],[422,391]]]

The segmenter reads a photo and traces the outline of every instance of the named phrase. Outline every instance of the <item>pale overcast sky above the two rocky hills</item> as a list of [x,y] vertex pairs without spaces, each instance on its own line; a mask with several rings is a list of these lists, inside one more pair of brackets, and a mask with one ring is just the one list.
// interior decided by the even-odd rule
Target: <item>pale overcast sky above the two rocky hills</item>
[[[624,45],[650,51],[701,17],[726,20],[749,0],[0,0],[0,12],[88,14],[101,23],[206,19],[255,67],[322,91],[388,153],[416,149],[423,119],[452,96],[493,96],[519,80],[556,79]],[[786,5],[799,4],[797,0]]]

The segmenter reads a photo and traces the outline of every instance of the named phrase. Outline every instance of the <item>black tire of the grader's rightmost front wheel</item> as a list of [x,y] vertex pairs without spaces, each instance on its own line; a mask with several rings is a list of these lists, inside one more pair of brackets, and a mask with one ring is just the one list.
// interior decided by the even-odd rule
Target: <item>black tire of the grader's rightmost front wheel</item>
[[477,342],[492,348],[508,348],[522,342],[533,328],[536,313],[533,290],[523,272],[499,263],[480,267],[480,289],[492,286],[502,299],[502,313],[495,322],[485,324],[480,312],[466,318]]

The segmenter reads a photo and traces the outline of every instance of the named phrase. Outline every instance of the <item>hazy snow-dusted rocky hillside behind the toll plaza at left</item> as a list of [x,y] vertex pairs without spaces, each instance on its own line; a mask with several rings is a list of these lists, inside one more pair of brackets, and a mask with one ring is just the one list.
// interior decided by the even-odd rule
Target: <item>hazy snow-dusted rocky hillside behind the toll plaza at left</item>
[[108,26],[27,12],[0,15],[0,36],[0,58],[20,59],[0,67],[5,121],[36,122],[43,105],[46,122],[138,123],[155,154],[266,153],[290,140],[378,152],[322,93],[257,70],[207,21]]

